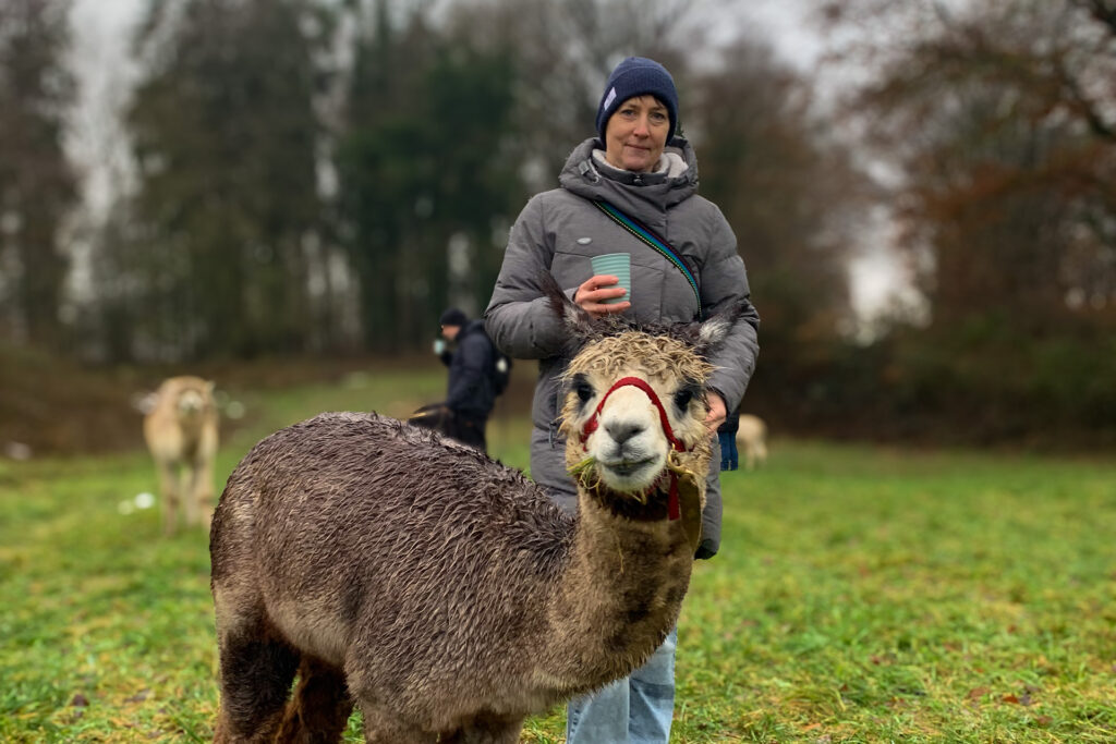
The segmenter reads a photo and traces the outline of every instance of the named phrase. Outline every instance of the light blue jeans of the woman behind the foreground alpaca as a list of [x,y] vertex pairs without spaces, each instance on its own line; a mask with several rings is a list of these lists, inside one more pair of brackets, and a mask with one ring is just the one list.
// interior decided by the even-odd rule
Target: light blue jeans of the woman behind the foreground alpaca
[[631,677],[569,702],[566,744],[666,744],[674,717],[677,628]]

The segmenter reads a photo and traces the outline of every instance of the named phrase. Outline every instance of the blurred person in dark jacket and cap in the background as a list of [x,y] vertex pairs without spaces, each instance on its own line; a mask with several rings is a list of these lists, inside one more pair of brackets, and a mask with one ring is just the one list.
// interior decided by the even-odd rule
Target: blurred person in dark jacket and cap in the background
[[452,417],[450,436],[463,444],[488,451],[484,428],[496,404],[492,378],[496,349],[484,331],[483,320],[470,320],[458,308],[442,313],[442,337],[456,344],[456,349],[443,349],[439,357],[450,368],[445,407]]

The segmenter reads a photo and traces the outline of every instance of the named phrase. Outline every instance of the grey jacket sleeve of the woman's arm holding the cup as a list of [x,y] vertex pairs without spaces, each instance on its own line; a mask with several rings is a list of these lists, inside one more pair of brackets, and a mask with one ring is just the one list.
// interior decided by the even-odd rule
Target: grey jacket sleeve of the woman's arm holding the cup
[[[497,348],[517,359],[546,359],[561,352],[564,335],[539,277],[554,261],[554,234],[547,230],[542,195],[520,212],[508,239],[500,276],[484,311],[484,328]],[[577,288],[568,289],[573,297]]]

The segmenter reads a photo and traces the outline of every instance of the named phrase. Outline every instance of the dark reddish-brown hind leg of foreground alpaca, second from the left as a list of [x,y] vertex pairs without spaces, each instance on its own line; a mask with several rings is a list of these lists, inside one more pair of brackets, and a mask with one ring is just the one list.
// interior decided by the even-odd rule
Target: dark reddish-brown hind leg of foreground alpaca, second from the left
[[304,658],[298,677],[298,688],[287,705],[276,742],[333,744],[341,741],[353,713],[345,675],[335,667]]

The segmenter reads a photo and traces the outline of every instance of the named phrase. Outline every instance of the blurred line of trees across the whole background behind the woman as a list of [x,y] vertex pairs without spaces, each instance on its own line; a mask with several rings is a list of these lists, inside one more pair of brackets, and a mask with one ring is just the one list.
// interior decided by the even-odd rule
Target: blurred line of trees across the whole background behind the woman
[[[674,73],[749,267],[750,408],[1116,436],[1116,3],[975,4],[821,7],[837,41],[804,74],[743,25],[725,41],[712,1],[152,0],[94,214],[69,4],[6,2],[0,339],[102,363],[424,347],[444,307],[484,307],[511,221],[639,54]],[[866,327],[847,267],[879,240],[921,301]]]

